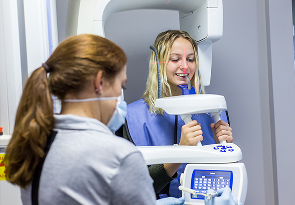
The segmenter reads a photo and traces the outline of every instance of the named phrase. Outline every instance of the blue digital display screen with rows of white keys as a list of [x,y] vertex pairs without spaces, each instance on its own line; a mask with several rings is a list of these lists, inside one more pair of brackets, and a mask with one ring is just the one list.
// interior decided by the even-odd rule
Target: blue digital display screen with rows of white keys
[[[197,193],[206,194],[208,189],[217,190],[224,187],[232,189],[232,182],[232,171],[195,169],[192,174],[191,189],[196,190]],[[191,194],[191,198],[204,199],[204,196]]]

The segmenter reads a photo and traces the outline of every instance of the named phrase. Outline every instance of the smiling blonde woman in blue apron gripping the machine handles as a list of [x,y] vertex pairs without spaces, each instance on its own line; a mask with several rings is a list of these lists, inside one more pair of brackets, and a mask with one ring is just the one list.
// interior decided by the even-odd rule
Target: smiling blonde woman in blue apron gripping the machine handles
[[[198,48],[193,38],[185,31],[168,30],[160,33],[154,47],[158,51],[161,73],[162,97],[181,95],[177,85],[188,84],[186,76],[196,93],[205,93],[198,67]],[[142,99],[127,107],[127,117],[123,126],[124,138],[136,146],[153,145],[203,145],[219,143],[220,140],[232,142],[232,129],[225,114],[214,124],[209,114],[193,115],[188,124],[179,116],[172,116],[155,107],[158,98],[157,61],[154,51],[150,59],[150,71]],[[180,105],[182,106],[182,105]],[[160,164],[149,168],[154,179],[155,191],[159,197],[180,197],[178,180],[173,180],[184,171],[185,164]],[[173,181],[172,181],[173,180]],[[169,187],[169,183],[171,185]],[[164,188],[165,187],[165,188]]]

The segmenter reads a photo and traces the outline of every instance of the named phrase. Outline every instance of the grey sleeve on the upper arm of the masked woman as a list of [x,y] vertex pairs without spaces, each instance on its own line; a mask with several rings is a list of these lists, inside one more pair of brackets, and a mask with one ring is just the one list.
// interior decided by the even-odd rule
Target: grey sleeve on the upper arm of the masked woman
[[139,152],[125,157],[111,182],[111,204],[156,204],[153,179]]

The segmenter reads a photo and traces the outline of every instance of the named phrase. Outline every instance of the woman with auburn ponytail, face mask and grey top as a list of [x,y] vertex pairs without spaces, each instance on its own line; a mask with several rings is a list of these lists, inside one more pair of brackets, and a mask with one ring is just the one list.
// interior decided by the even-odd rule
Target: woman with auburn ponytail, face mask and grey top
[[[24,205],[156,204],[141,153],[112,133],[126,114],[126,61],[111,41],[80,35],[32,73],[5,159],[8,181],[21,186]],[[60,115],[53,114],[51,94],[62,100]]]

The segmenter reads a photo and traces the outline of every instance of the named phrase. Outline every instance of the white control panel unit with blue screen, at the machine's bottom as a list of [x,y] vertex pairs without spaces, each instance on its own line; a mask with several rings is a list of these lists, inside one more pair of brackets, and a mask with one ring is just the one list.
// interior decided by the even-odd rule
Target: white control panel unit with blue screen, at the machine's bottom
[[[222,173],[226,173],[228,177]],[[215,178],[216,181],[213,181],[212,178]],[[232,195],[242,204],[245,202],[247,185],[248,179],[245,165],[238,162],[228,164],[188,164],[182,181],[182,186],[200,193],[206,193],[206,189],[217,190],[230,187]],[[193,195],[182,191],[182,196],[185,197],[185,204],[187,205],[205,204],[204,199],[200,199],[201,195]]]

